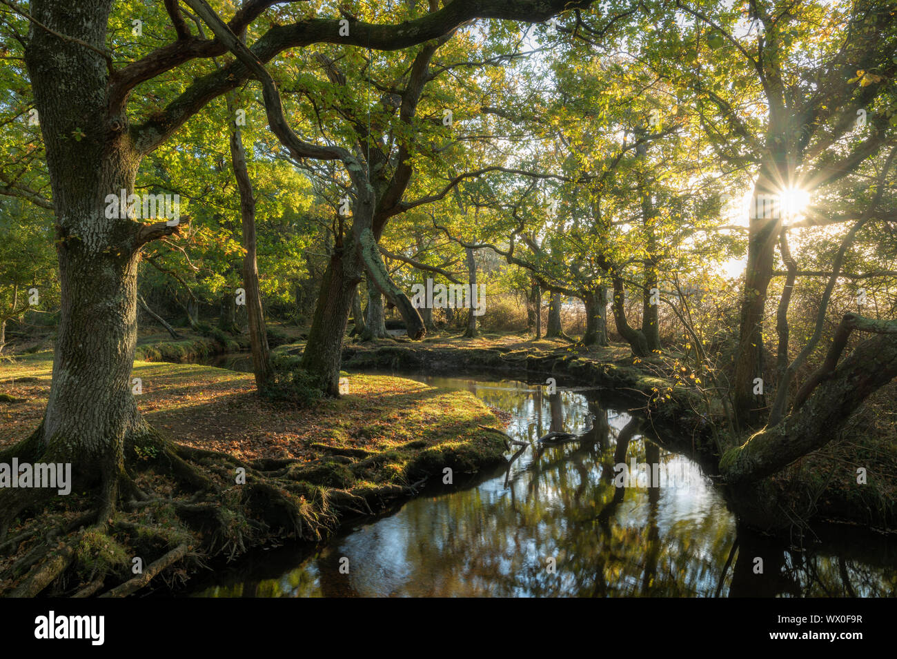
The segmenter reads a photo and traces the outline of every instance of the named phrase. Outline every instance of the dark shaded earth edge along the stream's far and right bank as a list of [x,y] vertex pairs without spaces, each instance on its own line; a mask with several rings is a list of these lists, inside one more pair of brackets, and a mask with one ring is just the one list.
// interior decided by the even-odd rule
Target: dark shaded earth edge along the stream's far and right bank
[[[631,362],[632,358],[625,360]],[[566,386],[598,386],[639,405],[657,429],[669,429],[679,439],[667,447],[694,456],[705,467],[716,466],[717,452],[711,438],[711,424],[724,423],[721,416],[706,416],[696,411],[703,404],[700,396],[671,380],[646,373],[637,364],[597,362],[576,353],[536,353],[528,350],[499,348],[432,347],[409,343],[366,346],[350,344],[343,350],[344,369],[425,370],[447,375],[479,369],[536,381],[554,377]],[[666,399],[663,392],[669,392]],[[724,486],[724,496],[748,525],[763,531],[792,533],[793,520],[803,529],[816,524],[858,525],[870,531],[897,532],[897,501],[884,497],[874,485],[864,490],[833,489],[820,485],[818,473],[788,467],[758,486],[735,491]],[[813,492],[813,495],[807,494]],[[754,498],[762,498],[760,506]],[[782,515],[781,509],[788,511]],[[797,514],[797,516],[795,516]],[[779,528],[772,529],[769,520]]]

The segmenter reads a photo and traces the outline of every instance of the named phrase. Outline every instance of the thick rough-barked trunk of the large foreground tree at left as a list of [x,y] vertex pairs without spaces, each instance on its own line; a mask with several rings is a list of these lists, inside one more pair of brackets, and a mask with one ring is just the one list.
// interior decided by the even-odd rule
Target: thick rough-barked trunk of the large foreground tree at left
[[[105,48],[110,6],[33,0],[29,11],[49,30]],[[107,195],[134,192],[141,156],[126,117],[109,117],[102,56],[74,39],[32,24],[25,50],[53,190],[61,291],[53,379],[33,457],[71,463],[74,490],[101,480],[103,515],[115,504],[126,438],[148,429],[131,388],[140,250],[178,229],[126,213],[107,217]]]

